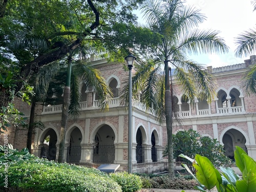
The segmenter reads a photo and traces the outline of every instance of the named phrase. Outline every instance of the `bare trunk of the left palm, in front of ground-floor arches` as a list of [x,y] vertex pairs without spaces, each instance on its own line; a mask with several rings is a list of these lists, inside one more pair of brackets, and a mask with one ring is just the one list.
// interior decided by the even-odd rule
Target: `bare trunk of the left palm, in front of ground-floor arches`
[[69,60],[68,61],[68,76],[66,79],[66,86],[65,86],[64,94],[63,94],[63,104],[62,104],[62,113],[61,113],[58,163],[64,162],[65,137],[66,137],[66,129],[67,129],[67,123],[68,123],[68,115],[69,115],[70,78],[71,78],[71,69],[72,69],[71,57],[69,57],[68,60]]

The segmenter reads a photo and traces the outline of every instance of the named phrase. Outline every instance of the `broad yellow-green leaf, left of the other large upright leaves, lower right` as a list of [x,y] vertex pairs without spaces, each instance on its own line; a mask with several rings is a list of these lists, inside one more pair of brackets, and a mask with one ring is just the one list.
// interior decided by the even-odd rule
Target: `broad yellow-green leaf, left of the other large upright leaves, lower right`
[[196,176],[201,184],[208,190],[214,188],[218,182],[214,165],[208,158],[196,155],[196,163],[193,166],[197,169]]

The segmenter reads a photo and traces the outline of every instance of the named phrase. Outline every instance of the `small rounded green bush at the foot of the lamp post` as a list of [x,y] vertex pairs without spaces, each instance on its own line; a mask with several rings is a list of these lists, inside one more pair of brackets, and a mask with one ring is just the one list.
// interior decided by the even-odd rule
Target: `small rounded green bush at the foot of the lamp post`
[[122,187],[123,192],[138,191],[142,187],[140,177],[127,172],[110,174],[111,178]]

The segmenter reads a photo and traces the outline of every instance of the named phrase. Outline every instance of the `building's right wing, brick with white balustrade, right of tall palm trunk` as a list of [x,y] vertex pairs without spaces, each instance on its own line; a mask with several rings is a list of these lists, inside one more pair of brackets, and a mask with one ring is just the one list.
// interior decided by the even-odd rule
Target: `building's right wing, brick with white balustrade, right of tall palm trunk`
[[242,147],[250,157],[256,159],[256,96],[246,95],[241,89],[242,77],[256,63],[256,56],[244,63],[220,68],[207,67],[217,80],[217,96],[211,103],[198,100],[195,108],[185,99],[179,87],[175,87],[175,109],[182,117],[179,130],[193,129],[203,136],[217,139],[224,145],[226,155],[234,156],[235,146]]

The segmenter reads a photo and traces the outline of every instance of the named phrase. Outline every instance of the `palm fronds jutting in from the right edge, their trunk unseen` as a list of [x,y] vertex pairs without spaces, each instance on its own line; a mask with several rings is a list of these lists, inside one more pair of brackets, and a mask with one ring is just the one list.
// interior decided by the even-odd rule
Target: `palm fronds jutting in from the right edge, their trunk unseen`
[[[256,10],[256,1],[251,1],[253,5],[253,11]],[[236,44],[238,45],[236,49],[236,56],[242,57],[251,55],[255,52],[256,48],[256,29],[249,29],[244,31],[236,38]],[[245,93],[248,95],[256,94],[256,65],[253,65],[250,68],[246,75],[244,76],[241,84],[242,88],[245,90]]]

